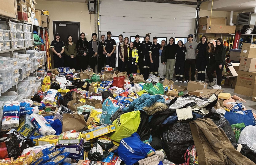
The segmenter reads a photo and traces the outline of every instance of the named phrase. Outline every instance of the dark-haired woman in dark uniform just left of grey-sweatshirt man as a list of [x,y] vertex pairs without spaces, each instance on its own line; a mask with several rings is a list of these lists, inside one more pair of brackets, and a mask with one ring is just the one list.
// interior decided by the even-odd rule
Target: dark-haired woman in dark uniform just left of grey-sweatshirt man
[[184,47],[183,42],[178,41],[178,46],[176,49],[176,62],[175,62],[175,82],[182,83],[182,79],[185,73],[185,55],[187,52],[186,47]]

